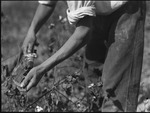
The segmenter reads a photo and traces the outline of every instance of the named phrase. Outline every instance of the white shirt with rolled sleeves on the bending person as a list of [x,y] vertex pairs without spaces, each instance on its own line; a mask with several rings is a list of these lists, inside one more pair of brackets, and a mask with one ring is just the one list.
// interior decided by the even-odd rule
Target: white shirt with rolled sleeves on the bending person
[[[70,24],[76,24],[85,16],[108,15],[120,8],[127,1],[94,1],[74,0],[67,1],[67,17]],[[39,1],[40,4],[49,4],[49,1]]]

